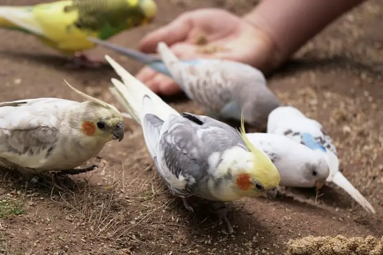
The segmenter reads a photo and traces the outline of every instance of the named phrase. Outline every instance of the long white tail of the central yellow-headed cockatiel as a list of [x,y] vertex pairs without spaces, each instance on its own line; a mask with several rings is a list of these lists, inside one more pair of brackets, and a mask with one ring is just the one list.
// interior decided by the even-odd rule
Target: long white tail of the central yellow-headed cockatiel
[[[166,104],[156,93],[149,89],[145,84],[134,78],[132,74],[125,70],[111,57],[106,55],[105,59],[123,81],[122,83],[116,79],[112,79],[114,87],[110,88],[110,91],[116,97],[118,102],[128,111],[130,117],[137,121],[137,123],[142,125],[142,119],[146,114],[143,112],[143,109],[146,108],[142,107],[145,95],[148,95],[152,101],[151,104],[153,105],[151,107],[151,113],[156,115],[158,118],[166,120],[171,114],[179,115],[174,108]],[[124,116],[128,117],[127,114],[124,114]]]

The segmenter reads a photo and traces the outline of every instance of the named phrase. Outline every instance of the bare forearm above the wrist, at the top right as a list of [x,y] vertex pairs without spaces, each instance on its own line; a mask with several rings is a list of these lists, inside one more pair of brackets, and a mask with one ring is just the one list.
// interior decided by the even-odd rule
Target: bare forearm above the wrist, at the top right
[[[271,37],[275,65],[363,0],[263,0],[243,18]],[[276,67],[275,66],[275,67]]]

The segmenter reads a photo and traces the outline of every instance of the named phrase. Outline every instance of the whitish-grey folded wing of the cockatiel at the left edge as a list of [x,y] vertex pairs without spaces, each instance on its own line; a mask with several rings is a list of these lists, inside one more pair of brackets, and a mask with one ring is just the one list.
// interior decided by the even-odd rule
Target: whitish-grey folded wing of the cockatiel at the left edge
[[59,98],[0,103],[0,158],[39,168],[58,141],[58,126],[64,117],[61,109],[74,103]]

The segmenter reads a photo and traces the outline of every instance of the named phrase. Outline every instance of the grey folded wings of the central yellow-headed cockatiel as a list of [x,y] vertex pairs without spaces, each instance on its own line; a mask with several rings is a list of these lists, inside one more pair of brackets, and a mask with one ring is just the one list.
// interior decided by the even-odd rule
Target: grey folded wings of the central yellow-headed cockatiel
[[[165,126],[165,124],[164,124]],[[159,171],[172,192],[189,196],[202,179],[214,174],[209,157],[244,142],[232,127],[206,116],[183,113],[163,128],[159,143]],[[221,157],[221,156],[220,156]]]

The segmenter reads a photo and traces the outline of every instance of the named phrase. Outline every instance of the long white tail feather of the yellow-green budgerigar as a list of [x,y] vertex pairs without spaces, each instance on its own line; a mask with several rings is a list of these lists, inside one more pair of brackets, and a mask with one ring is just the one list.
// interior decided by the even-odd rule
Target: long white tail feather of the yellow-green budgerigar
[[0,17],[33,34],[44,35],[44,31],[35,19],[33,12],[26,7],[0,7]]

